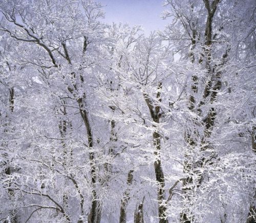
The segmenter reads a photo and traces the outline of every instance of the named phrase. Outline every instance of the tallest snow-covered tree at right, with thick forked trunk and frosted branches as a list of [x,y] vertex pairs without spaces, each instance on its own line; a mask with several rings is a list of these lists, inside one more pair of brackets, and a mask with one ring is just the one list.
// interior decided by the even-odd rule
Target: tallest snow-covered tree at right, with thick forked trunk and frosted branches
[[165,5],[170,10],[164,17],[172,23],[163,37],[173,42],[190,86],[183,108],[180,221],[245,221],[255,190],[250,143],[255,95],[248,86],[255,78],[255,2],[170,0]]

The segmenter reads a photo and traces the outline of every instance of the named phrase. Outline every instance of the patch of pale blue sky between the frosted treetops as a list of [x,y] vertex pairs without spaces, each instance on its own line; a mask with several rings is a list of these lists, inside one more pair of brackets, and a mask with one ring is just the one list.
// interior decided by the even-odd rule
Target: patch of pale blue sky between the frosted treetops
[[163,30],[169,22],[160,15],[164,11],[164,0],[97,0],[104,7],[105,22],[128,22],[132,26],[142,25],[145,33]]

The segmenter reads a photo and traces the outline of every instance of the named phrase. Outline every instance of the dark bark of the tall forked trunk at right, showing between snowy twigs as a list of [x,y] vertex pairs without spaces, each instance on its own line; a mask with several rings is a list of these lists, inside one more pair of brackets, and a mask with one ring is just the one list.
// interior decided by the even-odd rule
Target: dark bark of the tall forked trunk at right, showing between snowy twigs
[[[204,46],[203,46],[203,56],[205,57],[206,60],[206,69],[207,69],[207,73],[206,73],[206,84],[205,84],[205,88],[204,88],[204,92],[202,95],[202,100],[199,103],[199,106],[205,104],[205,99],[206,97],[208,97],[210,94],[210,104],[214,103],[217,97],[217,92],[218,90],[220,90],[221,88],[221,72],[216,72],[216,84],[214,85],[214,87],[212,87],[212,76],[214,75],[212,73],[212,68],[210,67],[210,61],[211,61],[211,43],[212,43],[212,20],[214,18],[217,6],[219,4],[220,0],[214,0],[211,2],[209,2],[209,0],[204,0],[204,4],[205,4],[205,8],[208,12],[207,18],[206,18],[206,24],[205,24],[205,42],[204,42]],[[194,33],[194,32],[193,32]],[[195,47],[196,41],[195,41],[195,37],[192,40],[192,47]],[[227,54],[227,52],[226,52]],[[195,62],[195,58],[194,55],[189,55],[190,56],[190,60],[191,62]],[[224,55],[225,58],[227,57],[227,55]],[[224,58],[224,59],[225,59]],[[199,60],[199,64],[202,63],[202,59]],[[223,62],[224,63],[224,62]],[[222,64],[223,65],[223,64]],[[217,67],[216,67],[217,70]],[[196,105],[196,100],[195,100],[195,96],[194,94],[196,94],[198,92],[198,78],[196,76],[192,77],[193,80],[193,84],[191,86],[191,91],[193,92],[190,96],[189,96],[189,105],[188,105],[188,109],[191,111],[194,111],[195,109],[195,105]],[[197,114],[201,114],[201,109],[197,108]],[[217,112],[216,109],[214,107],[211,107],[208,111],[208,115],[205,119],[205,123],[204,123],[204,134],[203,137],[201,139],[201,143],[200,143],[200,147],[201,147],[201,151],[205,151],[207,150],[208,146],[207,144],[207,138],[211,135],[211,131],[212,128],[214,127],[214,123],[215,123],[215,118],[216,118]],[[197,118],[195,118],[193,120],[193,126],[195,127],[195,130],[191,131],[191,132],[185,132],[185,141],[188,144],[188,152],[185,153],[185,161],[184,161],[184,173],[189,175],[189,172],[193,171],[192,169],[192,165],[191,163],[189,163],[190,160],[190,150],[193,151],[193,149],[195,148],[195,146],[197,145],[197,140],[196,138],[200,139],[200,135],[199,132],[196,130],[196,127],[199,125],[199,122],[197,120]],[[206,145],[206,146],[205,146]],[[202,157],[200,159],[200,161],[198,162],[198,165],[203,165],[203,161],[206,159],[206,157]],[[202,181],[202,177],[203,176],[199,176],[199,180],[198,180],[198,184],[201,183]],[[182,190],[184,191],[185,194],[187,194],[187,198],[189,199],[189,195],[190,192],[193,191],[193,180],[190,176],[187,176],[184,180],[183,180],[183,187]],[[195,186],[194,186],[195,187]],[[191,213],[189,213],[190,211],[187,210],[186,208],[184,208],[180,214],[180,222],[182,223],[190,223],[193,221],[193,215]]]

